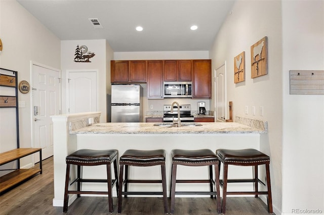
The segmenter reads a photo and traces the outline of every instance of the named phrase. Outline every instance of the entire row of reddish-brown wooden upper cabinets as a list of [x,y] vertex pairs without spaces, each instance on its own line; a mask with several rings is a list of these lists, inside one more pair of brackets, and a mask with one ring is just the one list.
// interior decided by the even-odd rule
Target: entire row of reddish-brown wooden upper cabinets
[[147,98],[163,98],[164,81],[192,81],[192,98],[211,98],[211,63],[211,60],[111,61],[111,83],[147,83]]

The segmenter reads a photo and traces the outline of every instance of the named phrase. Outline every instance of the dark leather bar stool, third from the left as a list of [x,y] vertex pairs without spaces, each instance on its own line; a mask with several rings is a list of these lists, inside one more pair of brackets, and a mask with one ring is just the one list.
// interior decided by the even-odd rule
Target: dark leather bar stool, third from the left
[[[215,195],[217,202],[217,212],[221,212],[221,201],[219,198],[219,160],[216,154],[210,149],[200,150],[182,150],[173,149],[171,151],[172,156],[172,171],[171,171],[171,210],[170,213],[174,213],[175,195],[211,195],[211,198]],[[208,166],[209,179],[202,180],[177,180],[177,166]],[[215,167],[215,180],[213,179],[213,165]],[[215,183],[216,182],[216,183]],[[176,191],[176,183],[209,183],[210,191],[202,192],[180,192]],[[214,191],[214,187],[215,190]]]

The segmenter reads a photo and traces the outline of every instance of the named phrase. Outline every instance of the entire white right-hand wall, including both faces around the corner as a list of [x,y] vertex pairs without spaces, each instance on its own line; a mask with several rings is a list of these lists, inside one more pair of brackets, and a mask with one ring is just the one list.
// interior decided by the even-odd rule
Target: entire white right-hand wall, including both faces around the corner
[[[289,95],[289,70],[324,69],[323,4],[237,1],[210,52],[213,68],[226,61],[227,102],[233,101],[234,115],[268,121],[260,149],[271,156],[276,214],[294,213],[293,209],[324,212],[324,96]],[[264,36],[268,75],[251,79],[250,47]],[[233,59],[242,51],[246,51],[246,81],[234,84]],[[264,106],[263,117],[259,106]]]

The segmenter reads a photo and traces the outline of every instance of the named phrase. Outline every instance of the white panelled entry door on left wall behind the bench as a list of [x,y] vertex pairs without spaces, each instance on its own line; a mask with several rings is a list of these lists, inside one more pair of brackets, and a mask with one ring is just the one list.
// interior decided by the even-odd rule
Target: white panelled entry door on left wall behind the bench
[[[32,65],[33,147],[42,148],[42,159],[53,156],[53,122],[60,114],[60,71]],[[34,156],[35,163],[39,156]]]

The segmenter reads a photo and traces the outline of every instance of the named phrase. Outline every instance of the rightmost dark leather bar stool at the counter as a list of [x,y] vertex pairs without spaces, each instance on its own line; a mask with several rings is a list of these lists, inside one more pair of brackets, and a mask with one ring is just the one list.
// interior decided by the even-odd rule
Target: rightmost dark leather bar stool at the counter
[[[256,149],[242,149],[242,150],[230,150],[230,149],[218,149],[216,155],[219,160],[224,164],[223,181],[220,180],[220,186],[223,187],[223,200],[222,200],[222,213],[226,211],[226,195],[247,195],[254,194],[258,197],[259,194],[268,195],[268,212],[273,213],[272,210],[272,197],[271,197],[271,184],[270,184],[270,157]],[[227,179],[228,165],[236,166],[253,166],[254,167],[254,179]],[[258,178],[258,166],[265,165],[267,176],[267,191],[258,190],[258,182],[265,185]],[[228,192],[227,183],[255,183],[255,191],[242,191],[242,192]]]

